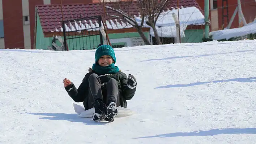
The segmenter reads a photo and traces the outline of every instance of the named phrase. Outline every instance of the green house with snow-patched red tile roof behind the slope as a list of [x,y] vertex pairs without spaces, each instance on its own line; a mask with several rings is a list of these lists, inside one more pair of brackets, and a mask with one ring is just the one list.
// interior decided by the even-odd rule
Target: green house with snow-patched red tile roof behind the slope
[[[127,2],[123,3],[126,6],[120,6],[119,10],[140,23],[138,2],[134,1],[129,5]],[[179,3],[182,42],[202,42],[204,35],[202,9],[196,0],[180,0]],[[69,50],[95,49],[98,44],[102,43],[102,32],[100,31],[105,28],[113,47],[144,45],[137,29],[113,9],[116,8],[116,4],[115,2],[106,3],[106,13],[104,13],[102,3],[64,4],[62,8],[61,5],[53,4],[37,5],[35,7],[35,49],[52,47],[53,39],[60,46],[60,42],[56,41],[58,38],[66,39],[65,42]],[[169,39],[169,43],[173,43],[172,41],[176,37],[176,25],[172,13],[178,15],[178,10],[176,3],[170,0],[156,23],[159,36]],[[142,31],[146,38],[154,44],[151,27],[144,23]]]

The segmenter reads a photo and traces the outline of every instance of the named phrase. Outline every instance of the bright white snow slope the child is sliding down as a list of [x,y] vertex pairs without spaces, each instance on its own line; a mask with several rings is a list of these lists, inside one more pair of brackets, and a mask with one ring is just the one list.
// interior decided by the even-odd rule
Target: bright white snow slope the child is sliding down
[[112,123],[78,117],[63,88],[94,51],[0,49],[0,143],[256,143],[256,40],[115,49],[138,86]]

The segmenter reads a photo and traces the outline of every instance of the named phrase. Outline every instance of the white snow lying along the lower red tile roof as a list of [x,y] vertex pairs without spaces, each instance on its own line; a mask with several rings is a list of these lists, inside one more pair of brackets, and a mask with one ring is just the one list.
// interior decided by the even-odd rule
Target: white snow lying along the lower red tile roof
[[[175,21],[174,21],[174,18],[172,17],[172,13],[175,13],[176,16],[178,17],[178,9],[164,11],[158,17],[156,26],[158,26],[158,27],[159,26],[161,26],[161,27],[168,26],[168,27],[172,27],[171,29],[175,29],[175,31],[176,31],[176,28],[173,27],[173,26],[175,26]],[[204,23],[205,23],[204,15],[195,6],[181,8],[181,9],[179,8],[179,16],[180,16],[180,18],[179,18],[180,25],[183,25],[183,27],[185,27],[185,28],[188,25],[204,25]],[[116,16],[116,17],[118,18],[118,16]],[[115,20],[115,22],[113,21],[113,19],[106,20],[108,29],[116,30],[116,29],[124,29],[124,28],[133,27],[128,22],[126,22],[126,23],[123,22],[122,19],[120,19],[121,23],[119,23],[117,19],[114,19],[114,20]],[[140,15],[138,17],[135,17],[135,20],[138,24],[140,24],[140,22],[141,22]],[[87,22],[85,22],[86,23],[85,25],[81,21],[79,23],[80,23],[81,27],[72,27],[72,29],[69,29],[69,27],[67,25],[65,25],[66,31],[85,30],[85,29],[90,29],[92,31],[98,31],[98,28],[95,28],[94,24],[91,21],[90,21],[90,25],[93,25],[93,26],[88,25]],[[71,23],[70,23],[70,25],[71,25]],[[99,25],[97,23],[97,21],[95,21],[95,25],[97,25],[97,26]],[[103,23],[102,23],[102,25],[103,25]],[[150,26],[148,26],[145,22],[144,27],[150,27]],[[95,28],[95,29],[91,29],[91,28]],[[62,27],[61,27],[61,31],[63,31]],[[163,34],[163,35],[165,35],[165,34]],[[173,35],[173,34],[171,34],[171,35]],[[175,35],[176,35],[176,33],[175,33]],[[171,36],[171,37],[173,37],[173,36]]]

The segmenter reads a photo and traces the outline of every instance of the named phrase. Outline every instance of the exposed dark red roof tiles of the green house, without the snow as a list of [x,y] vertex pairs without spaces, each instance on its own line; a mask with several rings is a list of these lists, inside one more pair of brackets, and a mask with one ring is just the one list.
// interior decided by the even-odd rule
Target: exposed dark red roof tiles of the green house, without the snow
[[[118,3],[106,3],[107,6],[116,7],[115,5]],[[139,16],[139,8],[138,8],[138,2],[133,1],[131,2],[124,2],[125,8],[132,16]],[[180,8],[186,8],[186,7],[192,7],[195,6],[198,8],[201,12],[202,9],[200,8],[199,4],[196,2],[196,0],[179,0],[179,7]],[[124,6],[122,6],[122,10],[124,12],[127,12],[124,9]],[[177,8],[176,0],[169,0],[164,8],[164,10],[172,10],[173,8]],[[43,32],[50,32],[50,31],[61,31],[62,27],[62,15],[61,15],[61,6],[60,5],[37,5],[36,6],[37,13],[39,15],[40,23],[42,25]],[[113,28],[114,25],[117,25],[117,22],[119,24],[127,23],[125,20],[116,18],[114,16],[120,16],[118,13],[114,12],[113,10],[107,9],[106,12],[109,16],[106,14],[106,20],[110,23],[111,27]],[[203,12],[202,12],[203,13]],[[103,22],[104,22],[104,10],[103,10],[103,4],[99,3],[92,3],[92,4],[64,4],[63,5],[63,18],[64,21],[66,20],[72,20],[72,19],[78,19],[78,18],[84,18],[84,17],[93,17],[93,16],[102,16]],[[111,20],[114,23],[111,23]],[[85,22],[82,22],[85,25]],[[72,25],[75,27],[74,22]],[[81,26],[80,23],[78,23],[79,26]],[[89,23],[90,25],[90,23]],[[111,28],[110,25],[108,28]],[[68,25],[69,28],[71,28],[71,25]]]

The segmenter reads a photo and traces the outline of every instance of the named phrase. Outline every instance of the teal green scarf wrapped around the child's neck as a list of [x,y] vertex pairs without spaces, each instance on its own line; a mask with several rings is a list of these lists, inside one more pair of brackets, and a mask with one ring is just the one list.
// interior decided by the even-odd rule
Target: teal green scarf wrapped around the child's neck
[[115,74],[119,71],[118,66],[112,63],[109,66],[100,66],[99,64],[93,64],[93,70],[97,74]]

